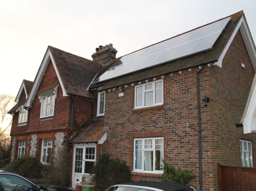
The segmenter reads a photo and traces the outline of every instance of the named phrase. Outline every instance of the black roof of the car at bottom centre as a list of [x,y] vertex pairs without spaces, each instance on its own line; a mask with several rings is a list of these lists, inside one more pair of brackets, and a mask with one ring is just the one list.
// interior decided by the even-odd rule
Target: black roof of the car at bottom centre
[[[139,187],[148,187],[148,189],[156,188],[163,191],[194,191],[193,188],[177,183],[171,182],[158,182],[158,181],[138,181],[138,182],[127,182],[118,184],[115,186],[139,186]],[[147,189],[147,188],[146,188]]]

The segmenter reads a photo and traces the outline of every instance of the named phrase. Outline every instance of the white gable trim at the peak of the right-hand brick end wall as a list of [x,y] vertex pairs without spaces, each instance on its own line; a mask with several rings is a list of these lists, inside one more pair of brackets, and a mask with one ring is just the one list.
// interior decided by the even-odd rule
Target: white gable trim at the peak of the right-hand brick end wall
[[222,60],[223,60],[225,54],[227,53],[230,44],[234,40],[238,29],[240,29],[240,31],[241,31],[241,34],[242,34],[243,39],[244,39],[244,44],[245,44],[245,46],[247,48],[248,54],[249,54],[250,59],[252,61],[253,68],[254,68],[254,70],[256,70],[256,50],[255,50],[255,45],[253,43],[252,35],[250,33],[250,29],[248,27],[248,24],[246,22],[246,19],[245,19],[244,15],[241,18],[241,20],[239,21],[239,23],[237,24],[236,29],[234,30],[234,32],[233,32],[232,36],[230,37],[226,47],[224,48],[223,52],[221,53],[218,62],[215,62],[214,65],[217,65],[220,68],[222,67]]

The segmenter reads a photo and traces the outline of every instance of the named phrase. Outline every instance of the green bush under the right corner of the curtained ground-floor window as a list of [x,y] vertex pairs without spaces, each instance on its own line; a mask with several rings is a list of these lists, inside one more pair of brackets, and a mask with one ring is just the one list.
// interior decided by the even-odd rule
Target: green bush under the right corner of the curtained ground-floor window
[[185,169],[182,171],[180,167],[175,169],[172,164],[168,164],[164,162],[164,160],[163,164],[164,173],[161,177],[163,182],[173,182],[186,185],[189,181],[196,177],[192,170],[189,171],[188,169]]

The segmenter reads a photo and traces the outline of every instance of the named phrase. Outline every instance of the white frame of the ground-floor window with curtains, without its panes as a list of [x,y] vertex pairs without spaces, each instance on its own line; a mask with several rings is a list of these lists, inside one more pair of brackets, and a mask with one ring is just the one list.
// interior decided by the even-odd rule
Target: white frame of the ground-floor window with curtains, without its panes
[[[142,141],[141,145],[141,168],[136,168],[136,141]],[[152,148],[145,148],[145,140],[152,140]],[[136,138],[134,139],[134,151],[133,151],[133,171],[145,172],[145,173],[163,173],[163,170],[156,170],[156,158],[153,157],[153,169],[151,171],[144,170],[145,151],[153,151],[153,156],[156,156],[156,140],[162,140],[162,158],[160,159],[160,165],[162,165],[162,159],[164,158],[164,138],[163,137],[150,137],[150,138]],[[140,150],[140,149],[139,149]],[[161,167],[160,167],[161,168]]]

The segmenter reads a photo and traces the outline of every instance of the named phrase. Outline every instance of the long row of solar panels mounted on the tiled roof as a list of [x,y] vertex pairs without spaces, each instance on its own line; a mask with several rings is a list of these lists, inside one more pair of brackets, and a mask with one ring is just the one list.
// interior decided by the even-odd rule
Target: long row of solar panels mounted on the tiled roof
[[229,18],[125,55],[95,82],[108,80],[212,48]]

